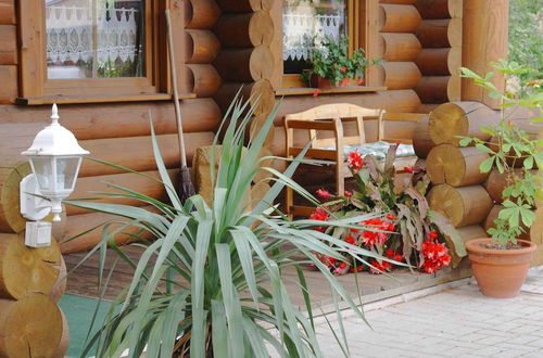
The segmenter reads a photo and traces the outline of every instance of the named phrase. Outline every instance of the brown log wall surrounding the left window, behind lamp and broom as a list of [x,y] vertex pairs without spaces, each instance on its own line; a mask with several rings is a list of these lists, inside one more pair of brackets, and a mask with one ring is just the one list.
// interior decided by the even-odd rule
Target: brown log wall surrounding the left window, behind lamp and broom
[[[195,93],[195,98],[181,100],[190,163],[198,146],[212,143],[214,131],[222,118],[220,108],[213,99],[222,79],[212,65],[220,44],[211,31],[219,18],[220,9],[214,1],[207,0],[172,0],[171,9],[175,24],[178,86],[182,92]],[[20,76],[17,64],[22,51],[21,46],[17,47],[16,22],[15,1],[0,0],[0,191],[2,192],[17,190],[2,189],[4,174],[12,172],[17,162],[25,161],[20,155],[21,151],[27,149],[35,135],[50,122],[51,114],[50,105],[15,104],[15,99],[21,93],[17,87]],[[151,149],[149,111],[159,136],[162,155],[171,169],[172,177],[176,179],[175,168],[179,167],[179,155],[172,101],[61,104],[60,120],[73,131],[80,145],[91,152],[92,157],[156,176]],[[88,191],[103,191],[106,189],[104,181],[122,184],[153,197],[165,196],[162,187],[153,180],[141,179],[132,174],[85,161],[72,197],[88,196]],[[13,203],[9,204],[15,205],[14,210],[18,212],[18,199],[10,200]],[[116,202],[141,205],[126,200]],[[5,203],[0,204],[0,222],[3,219],[2,205]],[[67,219],[56,229],[59,241],[81,233],[106,219],[102,214],[74,207],[67,207],[66,213]],[[22,219],[17,214],[15,221],[17,217]],[[10,226],[3,222],[0,225],[0,231],[17,232],[21,230],[17,225],[13,222]],[[63,253],[84,251],[94,245],[99,239],[100,230],[94,230],[75,241],[61,244],[61,250]],[[127,236],[119,239],[126,240]]]

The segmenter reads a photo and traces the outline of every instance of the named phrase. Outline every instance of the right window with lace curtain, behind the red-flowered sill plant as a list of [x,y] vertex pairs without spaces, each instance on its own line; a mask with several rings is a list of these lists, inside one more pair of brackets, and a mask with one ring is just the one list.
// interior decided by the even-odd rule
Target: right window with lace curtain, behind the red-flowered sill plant
[[366,15],[377,9],[377,0],[283,0],[282,4],[282,87],[306,87],[300,74],[311,67],[311,51],[325,37],[348,35],[350,51],[363,48],[369,56]]

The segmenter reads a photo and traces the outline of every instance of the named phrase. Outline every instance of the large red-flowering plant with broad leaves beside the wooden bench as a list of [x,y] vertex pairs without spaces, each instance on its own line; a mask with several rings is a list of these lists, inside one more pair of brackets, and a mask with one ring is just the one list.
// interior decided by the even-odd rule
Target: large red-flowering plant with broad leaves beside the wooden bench
[[[365,229],[317,228],[348,243],[364,247],[395,261],[406,261],[427,273],[433,273],[451,264],[455,266],[466,255],[462,239],[447,220],[430,210],[425,194],[430,180],[420,167],[406,167],[396,174],[393,162],[396,145],[391,145],[383,166],[358,152],[348,155],[348,166],[353,174],[357,190],[332,195],[317,190],[326,201],[312,219],[326,221],[329,218],[349,218],[375,214],[362,225]],[[371,273],[390,271],[393,264],[368,259],[370,265],[359,261],[340,261],[317,254],[320,260],[337,274],[362,271],[367,266]],[[350,265],[348,264],[350,263]]]

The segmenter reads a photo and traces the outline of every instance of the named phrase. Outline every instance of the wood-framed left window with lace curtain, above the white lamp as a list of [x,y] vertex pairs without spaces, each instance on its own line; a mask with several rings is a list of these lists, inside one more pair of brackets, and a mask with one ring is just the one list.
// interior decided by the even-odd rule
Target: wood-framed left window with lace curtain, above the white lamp
[[159,66],[166,61],[159,36],[166,34],[166,1],[29,2],[21,1],[24,98],[168,97],[167,66]]

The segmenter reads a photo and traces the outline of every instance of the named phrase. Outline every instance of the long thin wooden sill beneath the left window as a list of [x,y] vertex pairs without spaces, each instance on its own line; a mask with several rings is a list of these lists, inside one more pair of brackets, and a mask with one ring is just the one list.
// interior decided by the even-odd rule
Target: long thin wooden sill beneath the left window
[[[115,94],[115,95],[47,95],[33,98],[18,98],[17,104],[40,105],[40,104],[67,104],[67,103],[111,103],[111,102],[140,102],[140,101],[168,101],[172,100],[169,93],[141,93],[141,94]],[[180,100],[197,98],[195,93],[180,93]]]

